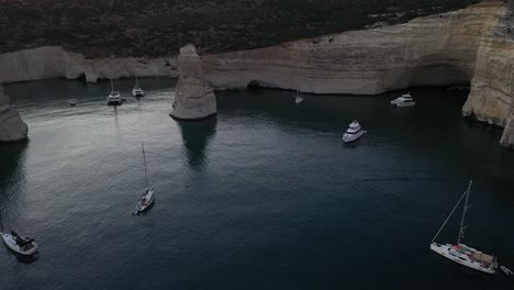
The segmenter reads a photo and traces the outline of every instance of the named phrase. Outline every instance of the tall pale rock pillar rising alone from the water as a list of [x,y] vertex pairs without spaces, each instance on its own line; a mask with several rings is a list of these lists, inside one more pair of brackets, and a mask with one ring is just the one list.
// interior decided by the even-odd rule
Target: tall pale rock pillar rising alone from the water
[[216,97],[205,81],[197,48],[188,44],[178,56],[179,80],[170,116],[177,120],[202,120],[216,114]]

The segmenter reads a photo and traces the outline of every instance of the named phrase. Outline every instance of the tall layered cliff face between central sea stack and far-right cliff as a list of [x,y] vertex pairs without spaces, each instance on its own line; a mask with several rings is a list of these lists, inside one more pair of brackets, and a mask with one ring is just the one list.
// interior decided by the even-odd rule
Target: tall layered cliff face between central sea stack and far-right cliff
[[469,85],[483,35],[506,13],[502,2],[262,49],[204,56],[216,89],[264,87],[314,93],[378,94],[418,85]]

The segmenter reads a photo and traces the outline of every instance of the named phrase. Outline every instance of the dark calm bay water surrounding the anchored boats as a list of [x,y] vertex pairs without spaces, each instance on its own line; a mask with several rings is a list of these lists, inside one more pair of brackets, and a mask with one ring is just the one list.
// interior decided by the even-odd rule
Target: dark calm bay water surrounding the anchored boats
[[[0,207],[41,246],[32,263],[0,247],[1,289],[514,289],[428,249],[473,178],[466,242],[514,269],[514,152],[460,118],[465,93],[413,89],[395,110],[395,93],[220,92],[216,120],[181,124],[170,80],[142,80],[141,101],[116,86],[118,110],[107,82],[7,87],[30,142],[0,146]],[[369,134],[345,146],[356,118]],[[132,216],[142,141],[156,204]]]

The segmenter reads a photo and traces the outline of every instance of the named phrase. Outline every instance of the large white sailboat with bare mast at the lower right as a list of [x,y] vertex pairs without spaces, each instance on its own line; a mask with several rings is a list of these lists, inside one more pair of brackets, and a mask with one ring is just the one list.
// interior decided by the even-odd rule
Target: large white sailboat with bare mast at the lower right
[[[482,252],[478,249],[468,247],[467,245],[460,243],[460,241],[463,237],[463,230],[466,228],[463,224],[465,224],[466,211],[469,208],[468,200],[469,200],[469,192],[471,191],[471,186],[472,186],[472,181],[469,182],[468,189],[465,191],[462,197],[460,197],[454,210],[450,212],[446,221],[443,223],[443,226],[439,228],[437,234],[432,239],[431,249],[447,259],[456,261],[471,269],[476,269],[476,270],[487,272],[487,274],[496,274],[496,268],[498,268],[496,257],[492,255],[483,254]],[[462,217],[460,220],[460,228],[459,228],[459,236],[457,238],[457,244],[455,245],[444,244],[443,245],[443,244],[436,243],[435,239],[437,238],[439,233],[443,231],[446,223],[451,217],[455,210],[458,208],[458,205],[460,204],[463,198],[466,198],[466,202],[465,202],[463,210],[462,210]]]

